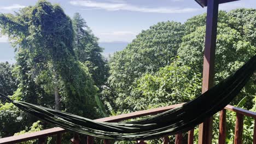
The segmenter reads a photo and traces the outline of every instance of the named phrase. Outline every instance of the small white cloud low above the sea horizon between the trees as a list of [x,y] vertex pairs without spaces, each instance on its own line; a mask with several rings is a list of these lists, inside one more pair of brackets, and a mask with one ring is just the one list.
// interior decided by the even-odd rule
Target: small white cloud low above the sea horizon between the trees
[[95,35],[100,38],[100,42],[113,42],[113,41],[125,41],[130,43],[133,39],[136,38],[138,32],[129,32],[129,31],[115,31],[115,32],[106,32],[106,33],[96,33]]

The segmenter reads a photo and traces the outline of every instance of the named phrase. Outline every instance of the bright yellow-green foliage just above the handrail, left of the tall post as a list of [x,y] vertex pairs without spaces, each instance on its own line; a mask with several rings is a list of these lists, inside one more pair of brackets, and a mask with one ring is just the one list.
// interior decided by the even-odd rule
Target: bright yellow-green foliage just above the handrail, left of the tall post
[[127,109],[134,111],[184,103],[200,94],[200,77],[177,60],[153,75],[139,78],[131,94],[117,99],[115,103],[125,104]]

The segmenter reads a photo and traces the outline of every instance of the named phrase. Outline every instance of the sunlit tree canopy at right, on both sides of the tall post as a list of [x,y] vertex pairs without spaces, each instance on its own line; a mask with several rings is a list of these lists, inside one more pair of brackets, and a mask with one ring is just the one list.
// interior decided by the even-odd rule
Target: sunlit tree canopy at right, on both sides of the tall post
[[[254,12],[253,12],[254,11]],[[247,34],[247,27],[253,27],[251,23],[255,23],[255,19],[248,19],[256,14],[254,9],[237,9],[226,13],[219,12],[219,21],[217,28],[217,44],[216,44],[216,60],[215,60],[215,81],[219,82],[225,77],[232,74],[236,69],[241,67],[243,63],[256,54],[254,46],[255,35]],[[241,16],[247,14],[245,16]],[[200,19],[195,19],[201,17]],[[243,18],[242,18],[243,17]],[[198,25],[200,21],[205,20],[205,15],[196,16],[185,22],[184,25]],[[245,20],[247,22],[245,22]],[[239,26],[237,26],[239,25]],[[255,29],[255,25],[254,25]],[[246,32],[245,32],[246,31]],[[250,37],[250,38],[248,38]],[[181,47],[179,47],[178,55],[181,57],[183,64],[196,69],[197,73],[202,73],[203,52],[205,45],[205,26],[190,29],[190,33],[183,37]],[[189,52],[188,52],[189,51]],[[255,76],[252,77],[255,79]],[[256,89],[253,80],[247,84],[240,96],[232,102],[238,102],[247,97],[247,108],[253,106],[253,98]]]

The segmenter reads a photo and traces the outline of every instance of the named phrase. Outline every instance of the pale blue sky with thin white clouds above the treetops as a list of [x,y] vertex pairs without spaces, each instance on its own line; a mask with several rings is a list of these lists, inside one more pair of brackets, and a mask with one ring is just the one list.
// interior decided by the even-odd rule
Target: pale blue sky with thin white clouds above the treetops
[[[59,4],[65,13],[73,17],[78,12],[100,43],[130,43],[142,30],[161,21],[185,22],[192,16],[206,12],[194,0],[49,0]],[[0,13],[14,13],[20,8],[34,5],[34,0],[0,0]],[[220,10],[256,8],[255,0],[241,0],[220,4]],[[0,37],[0,61],[8,38]],[[5,46],[5,47],[4,47]],[[3,48],[4,47],[4,48]],[[2,53],[2,55],[1,55]]]

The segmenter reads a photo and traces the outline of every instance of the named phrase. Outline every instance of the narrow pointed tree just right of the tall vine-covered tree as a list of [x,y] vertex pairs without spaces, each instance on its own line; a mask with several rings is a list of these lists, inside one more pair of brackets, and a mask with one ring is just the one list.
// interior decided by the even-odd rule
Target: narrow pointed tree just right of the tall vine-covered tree
[[107,60],[102,56],[103,49],[98,46],[98,38],[92,34],[79,13],[73,17],[75,45],[74,52],[80,62],[88,68],[96,85],[101,88],[108,77]]

